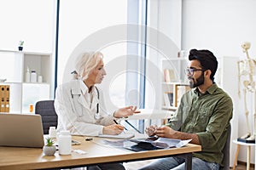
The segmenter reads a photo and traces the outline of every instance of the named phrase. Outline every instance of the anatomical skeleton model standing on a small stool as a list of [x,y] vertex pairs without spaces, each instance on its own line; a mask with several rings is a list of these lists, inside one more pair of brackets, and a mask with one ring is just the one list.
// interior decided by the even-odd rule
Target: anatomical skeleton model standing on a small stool
[[[239,89],[239,97],[241,97],[240,94],[240,83],[241,83],[241,77],[243,82],[243,101],[244,101],[244,109],[245,109],[245,116],[246,116],[246,124],[247,124],[247,133],[243,135],[240,139],[245,140],[246,142],[250,143],[250,141],[253,143],[255,142],[255,134],[256,134],[256,87],[255,87],[255,81],[253,80],[253,77],[256,75],[256,60],[251,59],[248,54],[248,49],[251,47],[250,42],[244,42],[241,45],[241,48],[243,48],[243,52],[246,53],[247,58],[242,59],[238,61],[238,89]],[[249,126],[249,120],[248,115],[249,111],[247,109],[247,94],[249,96],[253,97],[253,134],[251,133],[250,126]]]

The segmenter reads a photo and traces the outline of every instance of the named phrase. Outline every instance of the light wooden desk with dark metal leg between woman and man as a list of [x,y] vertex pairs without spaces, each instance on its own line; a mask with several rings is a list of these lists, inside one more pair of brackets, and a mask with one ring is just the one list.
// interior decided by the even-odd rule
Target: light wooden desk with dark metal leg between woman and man
[[0,169],[84,167],[105,162],[138,161],[178,154],[186,156],[187,169],[191,169],[192,152],[201,151],[201,145],[187,144],[182,148],[169,150],[134,152],[103,145],[101,144],[102,138],[93,138],[92,141],[85,141],[84,137],[73,136],[73,139],[81,142],[80,145],[73,145],[73,150],[84,150],[88,153],[80,155],[72,152],[71,155],[60,156],[57,151],[55,156],[44,156],[42,149],[0,147]]

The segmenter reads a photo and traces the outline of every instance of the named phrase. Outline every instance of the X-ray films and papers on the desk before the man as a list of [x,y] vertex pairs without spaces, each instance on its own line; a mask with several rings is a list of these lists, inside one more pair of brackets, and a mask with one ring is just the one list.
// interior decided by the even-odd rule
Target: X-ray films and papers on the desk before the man
[[113,147],[123,147],[128,150],[142,151],[142,150],[160,150],[168,148],[180,148],[188,144],[191,139],[167,139],[149,137],[143,139],[124,139],[124,140],[108,140],[105,139],[104,143]]

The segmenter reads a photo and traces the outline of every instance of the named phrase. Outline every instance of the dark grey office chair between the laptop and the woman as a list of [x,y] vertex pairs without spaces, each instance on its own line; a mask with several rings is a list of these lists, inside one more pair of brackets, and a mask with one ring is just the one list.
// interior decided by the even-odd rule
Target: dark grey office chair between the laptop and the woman
[[41,115],[44,134],[49,133],[49,127],[57,127],[58,116],[55,112],[54,100],[42,100],[36,103],[36,114]]

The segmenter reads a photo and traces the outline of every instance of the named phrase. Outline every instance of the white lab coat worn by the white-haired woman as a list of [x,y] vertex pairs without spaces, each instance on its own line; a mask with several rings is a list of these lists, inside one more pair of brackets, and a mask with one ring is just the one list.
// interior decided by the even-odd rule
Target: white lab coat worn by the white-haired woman
[[[69,130],[72,134],[97,136],[102,133],[103,126],[113,124],[113,115],[108,115],[99,90],[99,99],[96,88],[93,87],[92,102],[84,98],[89,97],[88,88],[81,80],[72,80],[56,88],[55,111],[58,115],[57,131]],[[89,95],[89,96],[88,96]],[[101,119],[95,118],[96,104],[99,103]]]

